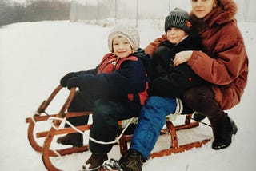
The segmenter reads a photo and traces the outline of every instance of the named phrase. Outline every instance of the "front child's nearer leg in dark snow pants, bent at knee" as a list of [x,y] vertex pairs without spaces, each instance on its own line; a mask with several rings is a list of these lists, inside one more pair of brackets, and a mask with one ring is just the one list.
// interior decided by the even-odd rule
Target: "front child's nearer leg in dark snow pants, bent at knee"
[[[140,110],[141,105],[133,104],[133,107],[130,108],[127,103],[122,101],[107,101],[104,99],[95,101],[90,137],[97,141],[114,141],[119,129],[118,121],[138,116]],[[109,153],[112,145],[89,141],[92,153]]]

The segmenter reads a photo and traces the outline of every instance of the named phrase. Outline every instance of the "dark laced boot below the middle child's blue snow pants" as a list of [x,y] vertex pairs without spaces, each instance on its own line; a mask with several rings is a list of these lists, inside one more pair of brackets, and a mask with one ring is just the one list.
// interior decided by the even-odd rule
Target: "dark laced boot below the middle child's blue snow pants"
[[143,159],[140,153],[134,149],[129,149],[119,161],[110,159],[103,164],[106,170],[118,171],[142,171]]

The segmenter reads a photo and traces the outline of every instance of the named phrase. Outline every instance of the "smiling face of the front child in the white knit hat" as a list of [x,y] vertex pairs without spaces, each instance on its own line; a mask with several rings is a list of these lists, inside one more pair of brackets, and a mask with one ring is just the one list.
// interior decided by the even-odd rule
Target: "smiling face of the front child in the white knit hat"
[[119,58],[126,58],[133,53],[130,42],[122,36],[113,38],[114,54]]

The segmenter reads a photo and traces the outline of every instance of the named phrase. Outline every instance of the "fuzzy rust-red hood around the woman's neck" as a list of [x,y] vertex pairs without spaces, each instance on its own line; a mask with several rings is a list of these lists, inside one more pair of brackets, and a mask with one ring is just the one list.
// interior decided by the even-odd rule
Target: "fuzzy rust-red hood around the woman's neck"
[[[202,22],[206,22],[210,19],[209,26],[214,25],[214,23],[222,25],[225,22],[235,20],[234,15],[237,13],[237,5],[234,0],[219,0],[218,2],[220,5],[203,18]],[[192,12],[190,16],[194,22],[198,22],[198,18],[196,18]]]

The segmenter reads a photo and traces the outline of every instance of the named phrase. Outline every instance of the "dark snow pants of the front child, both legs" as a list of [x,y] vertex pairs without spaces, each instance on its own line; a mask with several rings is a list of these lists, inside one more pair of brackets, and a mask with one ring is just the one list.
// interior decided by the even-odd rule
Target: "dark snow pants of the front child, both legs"
[[[92,111],[93,124],[90,128],[90,137],[97,141],[114,141],[118,133],[118,121],[138,117],[142,105],[127,100],[107,100],[77,91],[68,109],[70,112]],[[70,117],[67,119],[72,125],[85,125],[88,116]],[[68,125],[66,125],[68,127]],[[92,153],[109,153],[112,145],[102,145],[89,141]]]

